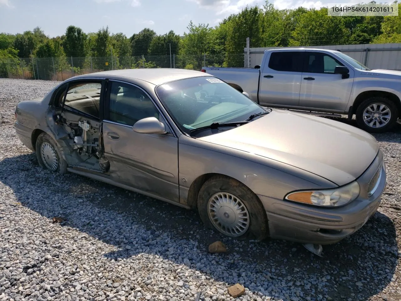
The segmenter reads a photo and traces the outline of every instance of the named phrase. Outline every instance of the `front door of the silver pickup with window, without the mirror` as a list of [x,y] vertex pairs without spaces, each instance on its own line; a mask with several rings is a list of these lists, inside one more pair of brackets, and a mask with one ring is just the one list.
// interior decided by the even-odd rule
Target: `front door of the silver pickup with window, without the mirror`
[[344,111],[350,98],[354,71],[349,77],[335,74],[336,66],[344,66],[329,53],[306,51],[300,91],[300,106],[308,109]]

